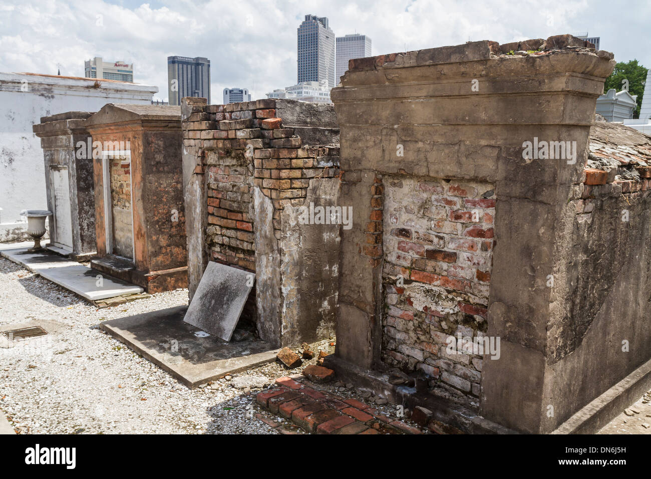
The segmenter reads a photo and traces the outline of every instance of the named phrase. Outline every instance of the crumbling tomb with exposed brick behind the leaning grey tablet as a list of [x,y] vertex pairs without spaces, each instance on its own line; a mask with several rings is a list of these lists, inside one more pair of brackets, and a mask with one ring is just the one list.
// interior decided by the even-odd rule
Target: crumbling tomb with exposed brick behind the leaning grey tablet
[[[324,277],[322,270],[336,263],[339,233],[324,241],[325,232],[320,231],[324,225],[297,229],[296,213],[314,201],[336,204],[336,124],[330,120],[319,125],[318,115],[308,119],[308,113],[323,107],[303,102],[205,105],[191,98],[184,102],[186,163],[195,161],[193,181],[203,177],[199,183],[206,192],[205,214],[197,214],[207,218],[199,242],[211,261],[256,274],[244,317],[256,323],[260,337],[277,345],[327,336],[334,325],[337,278]],[[296,128],[284,122],[281,112]],[[334,118],[333,111],[329,113]],[[337,188],[322,197],[330,184]],[[187,196],[191,190],[186,190],[186,204],[196,201]],[[296,241],[304,254],[293,245]],[[329,252],[331,259],[306,261],[311,248],[316,256]],[[193,280],[190,275],[191,291],[198,276]]]

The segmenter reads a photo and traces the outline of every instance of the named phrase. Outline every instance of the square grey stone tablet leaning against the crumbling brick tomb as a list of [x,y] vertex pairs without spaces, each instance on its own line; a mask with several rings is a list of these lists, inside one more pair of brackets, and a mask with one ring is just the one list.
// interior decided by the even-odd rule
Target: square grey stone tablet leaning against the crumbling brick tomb
[[230,341],[254,281],[253,273],[210,261],[184,321]]

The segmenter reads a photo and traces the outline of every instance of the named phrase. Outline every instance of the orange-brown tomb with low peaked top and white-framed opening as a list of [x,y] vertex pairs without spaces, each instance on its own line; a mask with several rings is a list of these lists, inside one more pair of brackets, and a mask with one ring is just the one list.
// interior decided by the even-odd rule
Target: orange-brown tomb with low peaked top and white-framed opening
[[92,142],[98,257],[92,267],[148,293],[187,286],[180,108],[107,104]]

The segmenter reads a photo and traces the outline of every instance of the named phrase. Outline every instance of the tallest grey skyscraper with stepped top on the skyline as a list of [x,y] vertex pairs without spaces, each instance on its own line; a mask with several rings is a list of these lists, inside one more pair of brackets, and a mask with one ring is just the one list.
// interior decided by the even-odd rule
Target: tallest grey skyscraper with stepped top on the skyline
[[318,81],[328,88],[337,86],[335,79],[335,33],[326,17],[305,15],[298,33],[298,83]]

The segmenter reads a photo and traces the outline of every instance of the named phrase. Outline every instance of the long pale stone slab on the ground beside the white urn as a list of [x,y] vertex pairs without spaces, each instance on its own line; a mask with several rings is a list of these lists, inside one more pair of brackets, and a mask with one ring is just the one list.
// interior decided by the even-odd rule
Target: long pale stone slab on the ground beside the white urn
[[[98,270],[85,267],[77,263],[77,261],[72,261],[72,259],[48,251],[29,253],[27,248],[23,247],[0,250],[0,254],[25,269],[40,274],[43,278],[70,289],[70,291],[90,301],[133,295],[144,291],[139,286],[126,283],[117,278],[111,278]],[[98,274],[102,275],[101,286],[97,285]]]

